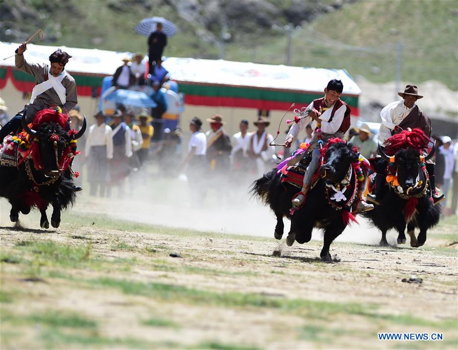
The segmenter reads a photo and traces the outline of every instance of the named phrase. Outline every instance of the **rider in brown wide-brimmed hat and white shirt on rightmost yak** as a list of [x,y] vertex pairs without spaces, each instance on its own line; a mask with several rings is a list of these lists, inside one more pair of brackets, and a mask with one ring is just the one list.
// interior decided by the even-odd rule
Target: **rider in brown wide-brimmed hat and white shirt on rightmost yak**
[[[424,134],[428,137],[431,136],[431,121],[428,116],[418,107],[415,102],[418,99],[421,99],[423,96],[418,95],[418,88],[415,85],[407,85],[403,93],[397,93],[400,97],[403,98],[401,101],[395,101],[385,106],[380,112],[382,118],[382,125],[380,126],[380,136],[379,140],[385,142],[385,140],[397,131],[419,128]],[[383,164],[379,164],[378,171],[381,171],[379,168],[385,168],[386,164],[383,160],[379,161]],[[426,162],[426,170],[429,175],[429,183],[433,189],[433,200],[434,204],[440,203],[445,199],[444,195],[440,196],[436,190],[436,178],[434,175],[434,166],[435,162],[433,159],[430,159]],[[379,174],[375,177],[375,194],[368,194],[367,200],[380,205],[380,202],[377,199],[377,195],[385,184],[385,179]]]

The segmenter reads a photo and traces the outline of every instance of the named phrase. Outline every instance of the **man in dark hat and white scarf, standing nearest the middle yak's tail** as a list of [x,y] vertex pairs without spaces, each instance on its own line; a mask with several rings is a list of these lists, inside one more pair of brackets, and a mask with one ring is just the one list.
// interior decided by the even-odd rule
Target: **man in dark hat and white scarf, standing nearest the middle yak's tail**
[[248,155],[256,162],[257,176],[262,177],[265,172],[272,170],[272,156],[275,154],[275,146],[269,144],[274,141],[274,136],[265,130],[271,122],[263,116],[259,116],[253,124],[258,130],[251,135]]

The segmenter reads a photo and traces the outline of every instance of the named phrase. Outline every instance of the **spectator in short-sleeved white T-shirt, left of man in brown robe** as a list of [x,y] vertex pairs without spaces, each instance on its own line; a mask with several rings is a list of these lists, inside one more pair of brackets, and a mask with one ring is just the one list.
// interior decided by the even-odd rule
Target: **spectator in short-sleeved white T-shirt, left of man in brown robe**
[[201,131],[202,121],[195,116],[190,123],[191,139],[188,154],[183,162],[187,165],[187,179],[193,193],[194,204],[202,204],[205,199],[205,174],[207,171],[207,138]]

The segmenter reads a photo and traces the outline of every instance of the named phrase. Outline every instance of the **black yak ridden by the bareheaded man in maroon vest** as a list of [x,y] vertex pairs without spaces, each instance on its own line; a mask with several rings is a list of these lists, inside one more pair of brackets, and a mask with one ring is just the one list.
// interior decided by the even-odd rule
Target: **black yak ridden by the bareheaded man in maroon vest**
[[[283,217],[291,220],[291,229],[286,242],[294,241],[303,244],[312,237],[313,227],[324,230],[324,245],[320,253],[323,261],[332,261],[329,248],[349,221],[356,221],[351,213],[352,205],[358,200],[358,179],[355,164],[359,166],[359,153],[351,143],[335,138],[321,149],[323,164],[317,171],[312,186],[307,194],[304,206],[291,213],[291,200],[301,187],[302,180],[294,186],[285,180],[284,174],[274,169],[258,180],[251,192],[270,206],[277,217],[274,237],[280,240],[283,236]],[[345,181],[345,183],[344,183]],[[336,196],[337,189],[345,198]],[[343,192],[343,194],[342,194]]]

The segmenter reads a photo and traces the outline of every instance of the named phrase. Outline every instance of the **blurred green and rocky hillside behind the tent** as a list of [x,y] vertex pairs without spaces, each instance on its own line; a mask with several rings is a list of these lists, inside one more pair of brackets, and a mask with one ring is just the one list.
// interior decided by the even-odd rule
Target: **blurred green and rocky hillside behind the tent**
[[[273,24],[302,25],[293,33],[292,64],[346,68],[374,82],[395,79],[402,45],[402,80],[435,79],[458,90],[458,6],[454,0],[2,0],[0,40],[22,41],[41,28],[44,44],[146,51],[134,27],[148,16],[175,22],[169,56],[283,64],[286,35]],[[224,23],[224,24],[223,24]]]

